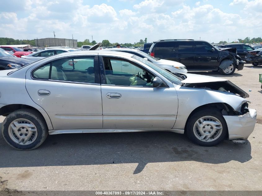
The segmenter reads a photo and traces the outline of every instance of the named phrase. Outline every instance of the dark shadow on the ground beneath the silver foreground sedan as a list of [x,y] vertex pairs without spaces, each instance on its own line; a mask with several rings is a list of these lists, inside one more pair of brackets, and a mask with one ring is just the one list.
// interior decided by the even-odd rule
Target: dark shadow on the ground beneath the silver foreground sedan
[[193,144],[185,135],[171,132],[52,135],[29,151],[12,148],[2,134],[0,143],[0,168],[138,163],[133,172],[137,174],[147,163],[244,163],[252,158],[249,142],[237,145],[225,140],[217,146],[203,147]]

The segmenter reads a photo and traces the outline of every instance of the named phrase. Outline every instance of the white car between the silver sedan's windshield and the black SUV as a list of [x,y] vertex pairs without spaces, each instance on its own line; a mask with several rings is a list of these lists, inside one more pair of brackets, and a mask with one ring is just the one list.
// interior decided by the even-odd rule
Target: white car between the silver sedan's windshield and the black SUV
[[130,49],[130,48],[109,48],[105,50],[127,52],[130,54],[135,54],[136,56],[139,56],[141,58],[146,58],[149,62],[154,63],[158,65],[159,67],[171,73],[187,73],[187,69],[182,63],[179,63],[176,61],[165,60],[165,59],[157,59],[157,58],[150,56],[149,54],[144,53],[141,50]]

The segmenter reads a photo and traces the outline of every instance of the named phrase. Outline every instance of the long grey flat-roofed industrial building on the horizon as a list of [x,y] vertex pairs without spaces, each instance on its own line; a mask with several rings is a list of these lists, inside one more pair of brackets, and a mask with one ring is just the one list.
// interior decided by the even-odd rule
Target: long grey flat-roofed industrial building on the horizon
[[37,47],[54,47],[54,46],[68,46],[70,48],[77,47],[76,39],[63,39],[63,38],[43,38],[35,39],[35,46]]

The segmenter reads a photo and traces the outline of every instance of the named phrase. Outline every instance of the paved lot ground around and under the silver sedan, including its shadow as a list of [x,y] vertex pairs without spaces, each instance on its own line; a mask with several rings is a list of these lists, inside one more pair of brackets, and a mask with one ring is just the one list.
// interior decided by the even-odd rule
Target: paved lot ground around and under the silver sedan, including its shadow
[[262,190],[259,73],[246,64],[226,77],[252,90],[258,122],[247,145],[201,147],[168,132],[94,133],[49,136],[36,150],[18,151],[1,134],[0,190]]

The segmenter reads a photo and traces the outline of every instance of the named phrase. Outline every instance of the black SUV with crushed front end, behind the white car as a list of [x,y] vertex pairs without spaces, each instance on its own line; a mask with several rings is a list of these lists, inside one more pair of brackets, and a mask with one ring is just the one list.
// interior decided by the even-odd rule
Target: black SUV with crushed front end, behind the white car
[[236,54],[236,49],[215,48],[207,41],[193,39],[158,40],[153,42],[149,54],[160,59],[177,61],[184,64],[188,71],[220,71],[231,75],[244,62]]

